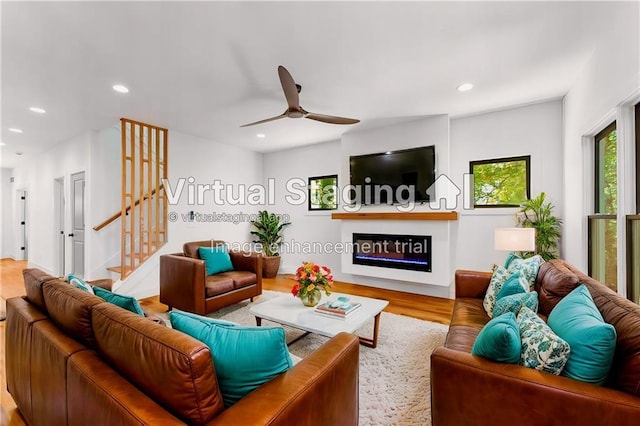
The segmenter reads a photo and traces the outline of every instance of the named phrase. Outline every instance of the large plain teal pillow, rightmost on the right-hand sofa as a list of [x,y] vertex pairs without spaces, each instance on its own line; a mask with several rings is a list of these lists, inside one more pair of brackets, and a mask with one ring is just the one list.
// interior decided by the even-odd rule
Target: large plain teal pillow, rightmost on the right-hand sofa
[[549,327],[571,345],[562,375],[602,385],[616,349],[616,329],[604,322],[589,289],[582,284],[551,311]]

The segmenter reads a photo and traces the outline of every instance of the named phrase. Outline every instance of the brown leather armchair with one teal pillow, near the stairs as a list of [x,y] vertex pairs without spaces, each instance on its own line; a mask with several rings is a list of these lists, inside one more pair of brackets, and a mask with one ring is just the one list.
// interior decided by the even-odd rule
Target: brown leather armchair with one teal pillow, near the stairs
[[207,275],[198,247],[223,245],[221,240],[191,241],[184,253],[160,256],[160,302],[172,308],[206,315],[262,294],[262,255],[229,251],[233,271]]

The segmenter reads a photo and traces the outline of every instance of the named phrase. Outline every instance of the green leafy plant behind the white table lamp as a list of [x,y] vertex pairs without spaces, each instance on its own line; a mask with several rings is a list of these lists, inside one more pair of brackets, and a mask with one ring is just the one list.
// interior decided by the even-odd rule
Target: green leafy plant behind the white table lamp
[[536,230],[536,251],[523,253],[524,257],[539,254],[544,260],[550,260],[558,258],[560,254],[558,242],[562,235],[562,219],[553,215],[554,206],[545,201],[546,196],[541,192],[520,205],[518,224]]

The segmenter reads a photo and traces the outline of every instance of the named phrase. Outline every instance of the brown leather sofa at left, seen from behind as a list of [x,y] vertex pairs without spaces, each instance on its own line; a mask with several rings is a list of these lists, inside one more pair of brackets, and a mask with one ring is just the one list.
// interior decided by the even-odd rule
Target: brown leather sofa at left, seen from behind
[[209,348],[37,269],[7,300],[7,388],[31,425],[356,425],[359,343],[340,334],[224,409]]

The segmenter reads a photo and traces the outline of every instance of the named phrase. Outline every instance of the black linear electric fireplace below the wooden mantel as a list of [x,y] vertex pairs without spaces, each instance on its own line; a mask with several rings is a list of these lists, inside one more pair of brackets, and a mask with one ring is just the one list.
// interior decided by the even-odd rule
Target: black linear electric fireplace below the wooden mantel
[[353,234],[353,263],[431,272],[431,236]]

